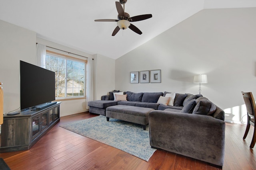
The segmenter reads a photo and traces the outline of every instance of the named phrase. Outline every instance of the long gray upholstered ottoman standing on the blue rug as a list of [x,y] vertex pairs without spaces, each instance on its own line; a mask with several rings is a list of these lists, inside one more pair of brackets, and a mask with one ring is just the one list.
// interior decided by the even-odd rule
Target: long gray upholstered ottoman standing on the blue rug
[[109,118],[120,119],[123,121],[129,121],[132,123],[138,123],[143,125],[143,129],[146,130],[148,124],[149,112],[154,109],[136,106],[116,105],[106,108],[107,121]]

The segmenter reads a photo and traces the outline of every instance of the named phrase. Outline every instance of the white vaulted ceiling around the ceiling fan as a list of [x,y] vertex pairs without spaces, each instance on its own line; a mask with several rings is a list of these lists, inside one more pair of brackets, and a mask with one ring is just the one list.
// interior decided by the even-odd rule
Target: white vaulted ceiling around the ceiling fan
[[255,0],[127,0],[125,12],[131,17],[153,17],[133,22],[142,35],[126,29],[112,36],[116,22],[94,20],[117,20],[115,1],[0,0],[0,20],[35,31],[40,38],[117,59],[200,10],[256,7]]

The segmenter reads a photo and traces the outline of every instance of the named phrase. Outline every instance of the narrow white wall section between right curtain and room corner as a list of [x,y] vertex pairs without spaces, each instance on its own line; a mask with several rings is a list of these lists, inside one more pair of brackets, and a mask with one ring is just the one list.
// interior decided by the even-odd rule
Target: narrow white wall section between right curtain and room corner
[[94,100],[101,100],[115,88],[115,60],[103,55],[94,55]]

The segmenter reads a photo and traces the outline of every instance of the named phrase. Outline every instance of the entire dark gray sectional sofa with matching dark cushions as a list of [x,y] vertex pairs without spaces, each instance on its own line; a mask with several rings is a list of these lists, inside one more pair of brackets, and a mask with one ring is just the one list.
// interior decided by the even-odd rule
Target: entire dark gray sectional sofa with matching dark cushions
[[124,92],[127,101],[114,101],[113,92],[110,92],[109,95],[102,96],[102,100],[88,102],[89,112],[106,115],[107,107],[117,105],[151,108],[152,111],[148,114],[151,147],[222,168],[225,146],[224,111],[202,95],[176,93],[173,106],[159,104],[160,96],[168,93],[128,91]]

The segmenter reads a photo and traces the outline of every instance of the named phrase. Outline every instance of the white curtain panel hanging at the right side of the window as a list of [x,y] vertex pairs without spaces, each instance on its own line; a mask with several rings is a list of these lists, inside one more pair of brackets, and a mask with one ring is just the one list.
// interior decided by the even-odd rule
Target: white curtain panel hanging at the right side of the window
[[89,109],[88,102],[93,100],[93,79],[92,59],[88,58],[86,66],[86,109]]

